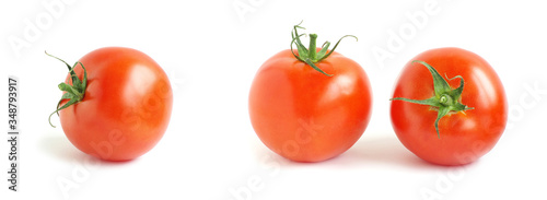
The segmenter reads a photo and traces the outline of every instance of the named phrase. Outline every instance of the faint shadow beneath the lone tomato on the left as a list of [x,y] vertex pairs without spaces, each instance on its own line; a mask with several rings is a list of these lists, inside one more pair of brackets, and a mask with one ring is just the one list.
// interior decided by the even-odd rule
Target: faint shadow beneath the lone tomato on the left
[[[130,161],[105,161],[88,155],[78,150],[65,136],[43,137],[38,141],[38,149],[40,152],[49,154],[63,162],[86,162],[86,163],[101,163],[102,165],[124,165],[131,163]],[[137,158],[136,158],[137,160]]]

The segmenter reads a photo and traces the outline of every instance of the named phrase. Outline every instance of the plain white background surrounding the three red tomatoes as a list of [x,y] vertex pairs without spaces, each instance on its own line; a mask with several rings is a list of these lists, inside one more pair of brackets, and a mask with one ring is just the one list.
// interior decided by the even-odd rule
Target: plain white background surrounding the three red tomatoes
[[[241,191],[243,199],[271,200],[426,199],[423,192],[437,193],[437,199],[547,198],[543,1],[75,0],[61,2],[57,13],[42,4],[54,1],[61,2],[0,4],[0,77],[20,78],[22,129],[20,191],[9,191],[3,180],[1,199],[236,199],[230,190]],[[405,13],[424,13],[428,3],[437,3],[435,12],[422,27],[412,25]],[[234,4],[248,12],[238,13]],[[269,151],[247,114],[256,70],[289,47],[292,25],[301,20],[307,33],[319,35],[319,43],[346,34],[359,37],[342,42],[338,51],[363,67],[374,94],[363,137],[340,156],[314,164],[289,162]],[[42,26],[34,38],[25,38],[30,24]],[[387,49],[389,32],[401,35],[400,28],[407,28],[404,46]],[[28,46],[14,50],[9,43],[14,37]],[[148,54],[174,86],[167,132],[152,151],[131,162],[93,160],[47,122],[61,95],[56,85],[67,72],[44,50],[73,62],[105,46]],[[379,62],[372,54],[375,46],[393,58]],[[511,110],[511,127],[497,146],[462,167],[417,158],[399,143],[388,117],[388,98],[403,66],[419,52],[446,46],[488,60],[505,86]],[[544,92],[524,90],[534,84]],[[0,87],[7,104],[8,86]],[[7,116],[7,106],[0,107]],[[58,118],[53,122],[59,125]],[[7,122],[2,127],[7,130]],[[2,170],[8,168],[8,149],[0,142]],[[75,188],[65,196],[59,179],[73,181]],[[258,188],[247,186],[257,179]]]

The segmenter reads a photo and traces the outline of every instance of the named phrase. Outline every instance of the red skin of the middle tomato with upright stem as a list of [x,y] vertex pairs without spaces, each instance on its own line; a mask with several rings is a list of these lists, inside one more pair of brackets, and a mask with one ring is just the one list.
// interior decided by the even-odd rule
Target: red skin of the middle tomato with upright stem
[[359,140],[371,115],[369,78],[357,62],[333,52],[316,66],[334,77],[283,50],[260,67],[251,87],[256,134],[270,150],[296,162],[344,153]]

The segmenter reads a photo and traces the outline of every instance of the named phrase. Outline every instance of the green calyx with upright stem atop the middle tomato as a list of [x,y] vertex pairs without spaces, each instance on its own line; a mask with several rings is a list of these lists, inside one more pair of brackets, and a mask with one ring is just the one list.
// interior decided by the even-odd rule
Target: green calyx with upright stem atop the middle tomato
[[[300,24],[302,24],[302,22],[300,22]],[[292,55],[294,55],[294,58],[307,63],[309,66],[311,66],[313,69],[317,70],[318,72],[321,72],[327,77],[333,77],[333,74],[326,73],[325,71],[319,69],[317,66],[315,66],[315,63],[328,58],[335,51],[336,47],[338,47],[338,44],[340,44],[340,42],[344,38],[353,37],[353,38],[356,38],[356,40],[358,40],[358,38],[353,35],[345,35],[340,39],[338,39],[338,42],[336,43],[335,47],[333,47],[333,49],[328,50],[328,47],[330,46],[330,42],[325,42],[321,47],[322,49],[319,51],[317,51],[316,50],[317,49],[317,45],[316,45],[317,34],[309,34],[310,46],[309,46],[309,48],[306,48],[302,44],[302,40],[300,40],[300,37],[305,36],[306,34],[299,35],[299,32],[298,32],[298,28],[305,30],[305,27],[300,26],[300,24],[294,25],[294,28],[291,32],[291,36],[292,36],[291,52],[292,52]],[[298,50],[299,55],[294,54],[293,48],[292,48],[293,45],[296,45],[296,50]]]

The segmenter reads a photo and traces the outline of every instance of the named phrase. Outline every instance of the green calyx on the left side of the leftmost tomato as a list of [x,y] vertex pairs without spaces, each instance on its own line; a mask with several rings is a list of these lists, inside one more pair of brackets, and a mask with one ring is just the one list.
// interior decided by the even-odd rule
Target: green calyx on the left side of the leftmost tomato
[[[85,95],[85,89],[88,87],[88,71],[85,70],[85,67],[83,67],[83,63],[80,62],[80,61],[77,61],[71,67],[65,60],[62,60],[62,59],[60,59],[58,57],[55,57],[53,55],[49,55],[49,54],[47,54],[47,51],[46,51],[46,55],[49,56],[49,57],[53,57],[53,58],[55,58],[57,60],[60,60],[61,62],[63,62],[65,64],[67,64],[67,68],[69,69],[69,73],[70,73],[70,79],[72,81],[72,85],[69,85],[69,84],[67,84],[65,82],[59,83],[59,85],[58,85],[59,90],[61,90],[62,92],[66,92],[66,93],[62,94],[61,99],[59,101],[59,103],[57,103],[56,110],[54,113],[51,113],[51,115],[49,115],[49,119],[48,119],[49,120],[49,125],[55,128],[55,126],[51,123],[51,116],[54,114],[57,114],[57,116],[59,116],[59,110],[65,109],[65,108],[71,106],[73,104],[78,104],[78,103],[80,103],[83,99],[83,96]],[[74,68],[79,63],[80,63],[80,66],[83,69],[83,80],[82,81],[80,81],[80,78],[78,78],[78,75],[74,72]],[[65,105],[60,106],[61,102],[65,101],[65,99],[68,99],[68,102]]]

